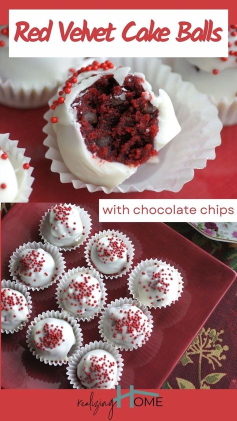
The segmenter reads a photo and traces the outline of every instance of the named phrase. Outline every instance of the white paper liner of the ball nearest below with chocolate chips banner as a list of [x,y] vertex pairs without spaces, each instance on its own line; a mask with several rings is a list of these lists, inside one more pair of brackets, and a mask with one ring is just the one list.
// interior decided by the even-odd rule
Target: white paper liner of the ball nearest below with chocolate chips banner
[[[105,274],[100,272],[97,267],[94,266],[94,264],[92,263],[91,259],[90,259],[90,251],[91,251],[91,247],[94,244],[94,242],[105,236],[105,235],[113,235],[119,239],[121,239],[124,244],[127,246],[127,256],[128,256],[128,261],[126,264],[126,267],[121,270],[121,272],[119,273],[111,273],[111,274]],[[134,256],[134,246],[131,243],[131,240],[129,237],[127,237],[125,234],[123,234],[122,232],[119,231],[114,231],[114,229],[107,229],[107,230],[103,230],[103,231],[99,231],[98,233],[94,234],[91,238],[89,238],[86,246],[85,246],[85,260],[88,263],[88,266],[90,268],[95,268],[96,270],[98,270],[98,272],[105,278],[105,279],[115,279],[117,277],[120,277],[122,275],[124,275],[126,272],[129,272],[132,266],[132,260],[133,260],[133,256]]]

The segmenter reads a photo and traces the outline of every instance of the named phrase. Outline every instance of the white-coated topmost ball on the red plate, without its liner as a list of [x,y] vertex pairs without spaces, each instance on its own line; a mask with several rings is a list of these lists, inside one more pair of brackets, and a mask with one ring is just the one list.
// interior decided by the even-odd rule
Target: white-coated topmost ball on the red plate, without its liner
[[44,223],[44,234],[50,244],[64,247],[80,241],[83,226],[76,207],[57,204],[49,210]]

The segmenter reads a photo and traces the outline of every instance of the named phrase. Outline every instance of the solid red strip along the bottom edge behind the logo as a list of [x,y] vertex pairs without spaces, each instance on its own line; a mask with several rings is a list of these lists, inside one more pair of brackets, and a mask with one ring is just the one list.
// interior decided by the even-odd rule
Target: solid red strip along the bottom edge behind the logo
[[[34,421],[42,419],[83,419],[86,421],[121,421],[135,419],[144,420],[172,420],[200,421],[200,419],[234,419],[236,411],[236,390],[149,390],[159,393],[162,406],[148,405],[147,403],[129,408],[129,397],[121,401],[121,408],[113,407],[112,418],[108,414],[111,398],[116,396],[116,390],[94,390],[93,403],[95,406],[77,407],[77,399],[83,402],[90,401],[91,390],[1,390],[1,414],[3,419],[23,418],[25,411],[32,414]],[[122,390],[123,393],[129,390]],[[135,395],[137,396],[137,394]],[[147,397],[148,401],[150,396]],[[42,402],[40,406],[40,402]],[[101,406],[102,402],[105,402]],[[99,405],[100,403],[100,405]],[[26,408],[27,406],[27,408]],[[204,416],[203,416],[204,415]],[[11,418],[9,418],[11,416]]]

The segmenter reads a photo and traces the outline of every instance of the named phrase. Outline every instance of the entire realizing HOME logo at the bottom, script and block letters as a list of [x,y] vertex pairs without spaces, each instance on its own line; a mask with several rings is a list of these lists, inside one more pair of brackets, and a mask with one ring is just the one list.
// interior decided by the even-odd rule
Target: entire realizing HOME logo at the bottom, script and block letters
[[[135,396],[135,395],[139,396]],[[111,398],[109,400],[101,400],[97,397],[95,398],[94,392],[91,391],[89,400],[84,401],[83,399],[77,399],[77,407],[85,407],[87,406],[92,412],[92,415],[96,415],[99,408],[108,408],[108,419],[112,419],[113,416],[113,409],[116,405],[117,408],[121,408],[121,400],[129,397],[129,407],[134,408],[134,406],[163,406],[162,405],[162,397],[159,396],[159,393],[149,392],[146,390],[138,390],[134,389],[134,386],[131,385],[129,387],[129,392],[121,394],[121,386],[117,386],[117,394],[116,397]]]

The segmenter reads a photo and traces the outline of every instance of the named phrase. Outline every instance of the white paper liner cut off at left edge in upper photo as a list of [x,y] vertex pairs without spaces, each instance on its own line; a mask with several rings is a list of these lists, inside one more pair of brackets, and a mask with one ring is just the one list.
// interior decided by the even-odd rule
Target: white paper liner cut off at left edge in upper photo
[[30,158],[24,156],[25,149],[17,147],[18,140],[10,140],[9,133],[0,133],[0,148],[7,153],[8,158],[15,170],[18,190],[13,200],[16,202],[27,202],[32,191],[31,185],[34,177],[31,176],[33,167],[23,168],[24,163],[29,163]]

